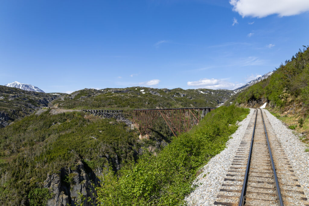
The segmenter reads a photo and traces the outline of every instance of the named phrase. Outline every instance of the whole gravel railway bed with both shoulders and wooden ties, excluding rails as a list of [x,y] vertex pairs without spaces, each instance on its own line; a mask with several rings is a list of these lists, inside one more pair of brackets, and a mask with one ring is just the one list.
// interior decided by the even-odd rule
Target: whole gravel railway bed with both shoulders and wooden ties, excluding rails
[[[258,129],[254,133],[257,113],[259,114],[256,124]],[[269,136],[283,203],[307,205],[309,153],[306,152],[306,145],[269,111],[263,110],[262,114],[264,114],[266,126],[264,127]],[[246,188],[245,204],[280,205],[276,198],[273,170],[268,159],[268,155],[271,155],[267,149],[262,119],[261,110],[251,109],[247,118],[240,122],[241,126],[232,135],[232,139],[227,142],[226,149],[201,169],[201,174],[193,182],[196,189],[185,199],[188,205],[238,205],[242,188]],[[250,158],[247,153],[250,151],[251,136],[253,137],[253,156]],[[261,159],[262,156],[265,156],[265,160]],[[247,162],[251,163],[248,176],[247,171],[245,173]],[[248,180],[244,184],[245,176]],[[243,185],[246,186],[243,187]]]

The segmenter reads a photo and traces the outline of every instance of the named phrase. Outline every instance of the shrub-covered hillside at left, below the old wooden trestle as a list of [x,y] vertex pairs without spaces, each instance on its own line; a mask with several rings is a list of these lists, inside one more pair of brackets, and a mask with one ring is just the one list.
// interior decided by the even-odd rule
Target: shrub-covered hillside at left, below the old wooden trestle
[[[104,167],[116,172],[127,162],[136,161],[141,147],[151,145],[149,141],[139,141],[136,132],[124,123],[84,115],[50,115],[47,110],[0,129],[1,205],[28,205],[32,199],[45,201],[46,189],[49,198],[52,193],[63,192],[71,204],[74,200],[70,200],[69,192],[74,192],[74,185],[86,186],[69,177],[84,170],[95,182],[95,174],[101,174]],[[60,175],[60,191],[44,188],[47,174]],[[36,193],[39,196],[34,198]]]

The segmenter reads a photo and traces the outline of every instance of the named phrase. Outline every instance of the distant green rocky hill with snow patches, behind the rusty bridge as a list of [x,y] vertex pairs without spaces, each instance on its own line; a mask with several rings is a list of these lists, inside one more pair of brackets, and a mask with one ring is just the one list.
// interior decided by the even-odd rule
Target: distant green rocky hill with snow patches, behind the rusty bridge
[[123,89],[83,89],[53,101],[63,109],[133,109],[216,107],[232,94],[231,90],[155,89],[129,87]]

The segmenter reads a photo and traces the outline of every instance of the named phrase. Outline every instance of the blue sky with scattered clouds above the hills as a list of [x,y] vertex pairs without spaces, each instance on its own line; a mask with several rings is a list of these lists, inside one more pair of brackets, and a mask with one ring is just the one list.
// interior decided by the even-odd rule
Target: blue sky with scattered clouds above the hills
[[309,1],[290,2],[2,0],[0,85],[234,89],[309,44]]

